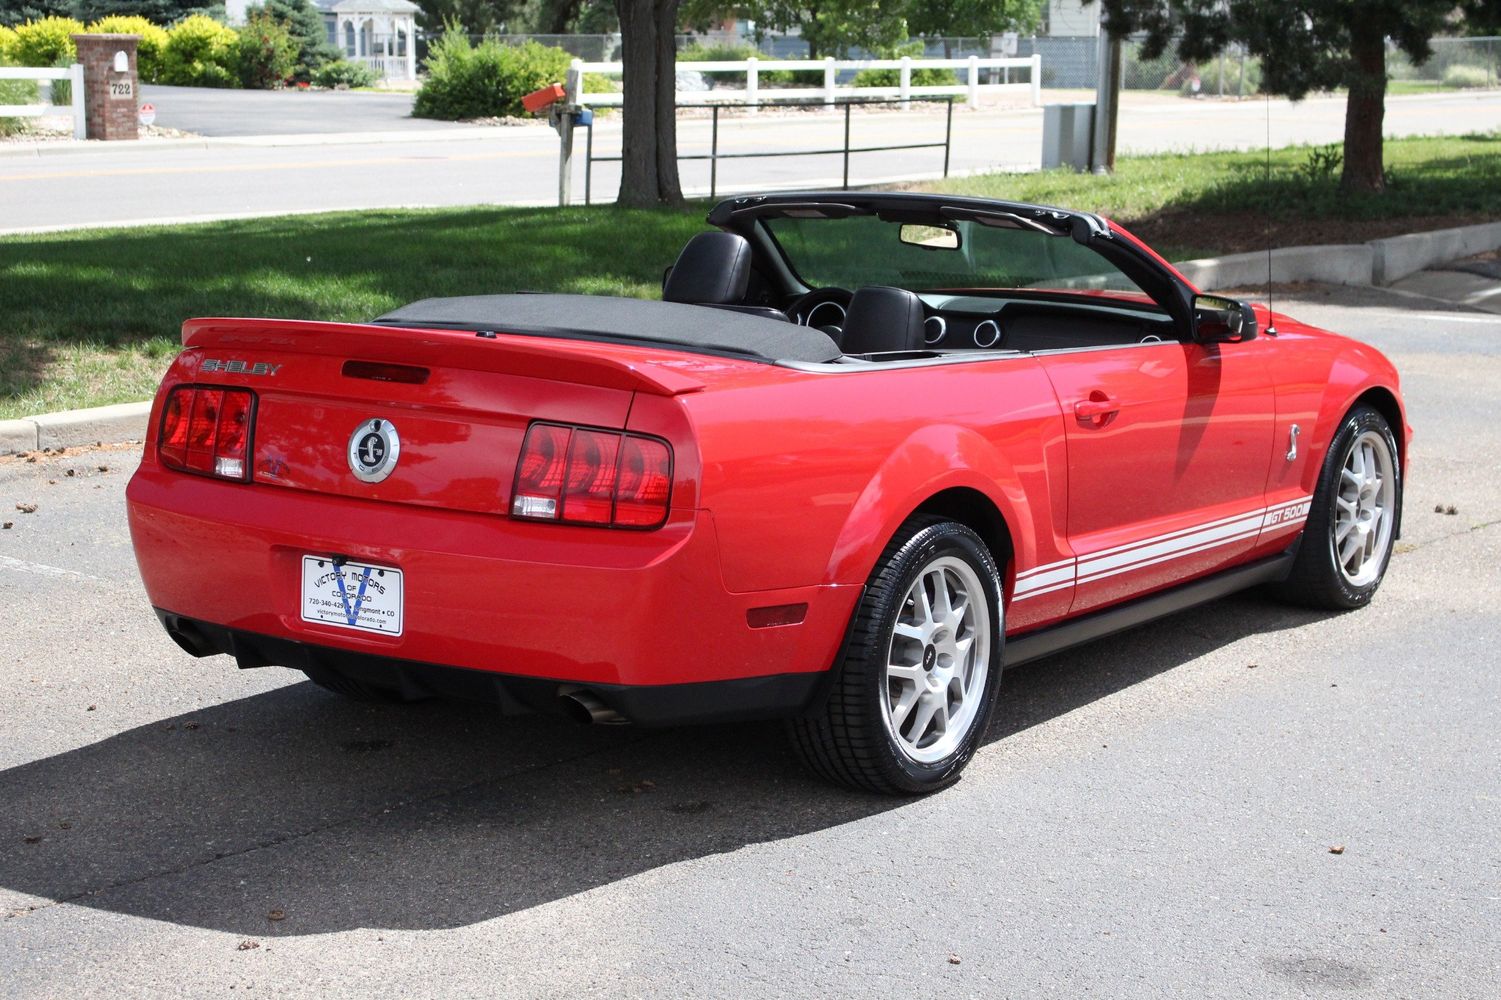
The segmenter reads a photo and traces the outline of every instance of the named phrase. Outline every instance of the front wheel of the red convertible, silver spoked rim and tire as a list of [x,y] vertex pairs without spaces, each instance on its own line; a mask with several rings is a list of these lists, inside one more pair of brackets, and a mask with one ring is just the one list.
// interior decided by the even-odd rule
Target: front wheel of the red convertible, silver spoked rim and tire
[[1309,608],[1370,604],[1402,523],[1402,467],[1391,425],[1372,407],[1345,414],[1328,446],[1303,541],[1277,595]]

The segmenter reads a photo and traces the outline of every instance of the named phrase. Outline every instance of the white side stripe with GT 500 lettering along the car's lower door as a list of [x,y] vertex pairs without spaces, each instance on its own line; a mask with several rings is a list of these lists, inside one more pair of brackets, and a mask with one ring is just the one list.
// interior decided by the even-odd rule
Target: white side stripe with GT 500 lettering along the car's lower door
[[1016,574],[1012,601],[1037,598],[1045,593],[1067,590],[1076,584],[1094,583],[1108,577],[1135,572],[1148,566],[1195,556],[1198,553],[1301,527],[1307,521],[1313,497],[1285,500],[1270,508],[1256,508],[1244,514],[1177,529],[1151,538],[1115,545],[1091,553],[1082,559],[1064,559],[1043,566],[1033,566]]

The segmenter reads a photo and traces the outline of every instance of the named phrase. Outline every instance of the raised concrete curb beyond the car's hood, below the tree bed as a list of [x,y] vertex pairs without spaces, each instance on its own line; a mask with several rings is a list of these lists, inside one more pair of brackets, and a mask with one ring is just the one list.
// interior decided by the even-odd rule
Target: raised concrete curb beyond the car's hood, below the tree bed
[[1330,285],[1390,285],[1433,264],[1501,249],[1501,222],[1460,225],[1451,230],[1408,233],[1369,243],[1288,246],[1270,254],[1229,254],[1174,264],[1184,278],[1204,290],[1247,288],[1291,281]]

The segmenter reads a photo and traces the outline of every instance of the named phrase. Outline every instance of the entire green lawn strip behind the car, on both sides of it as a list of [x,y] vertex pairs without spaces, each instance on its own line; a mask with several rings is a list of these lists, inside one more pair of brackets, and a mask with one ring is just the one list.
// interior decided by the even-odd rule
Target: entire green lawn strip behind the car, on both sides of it
[[[1333,176],[1307,176],[1309,156],[1276,150],[1270,182],[1262,153],[1208,153],[1121,159],[1112,177],[934,188],[1102,212],[1175,260],[1241,249],[1243,236],[1264,246],[1268,231],[1343,242],[1327,221],[1400,231],[1501,218],[1501,135],[1388,141],[1382,198],[1342,197]],[[0,419],[149,398],[195,315],[368,320],[426,296],[516,290],[654,296],[705,209],[347,212],[0,237]]]

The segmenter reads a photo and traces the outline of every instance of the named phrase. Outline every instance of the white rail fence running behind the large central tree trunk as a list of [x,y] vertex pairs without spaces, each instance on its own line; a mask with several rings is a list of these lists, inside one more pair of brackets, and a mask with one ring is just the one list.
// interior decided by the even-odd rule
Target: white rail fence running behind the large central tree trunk
[[[585,63],[575,59],[572,72],[569,72],[569,102],[582,104],[585,107],[609,107],[621,104],[623,95],[620,92],[587,92],[584,89],[584,74],[620,75],[623,69],[623,63]],[[803,74],[823,71],[824,83],[821,87],[773,89],[760,86],[761,74],[785,69],[800,71]],[[899,71],[899,84],[896,87],[841,86],[838,83],[839,74],[847,69],[896,69]],[[913,86],[913,72],[919,69],[964,71],[959,74],[964,83],[958,86]],[[1003,81],[980,83],[980,71],[983,69],[1000,71],[1003,74]],[[1016,69],[1027,71],[1025,83],[1010,83],[1010,74]],[[979,56],[970,56],[968,59],[913,59],[911,56],[904,56],[902,59],[862,60],[839,60],[833,57],[824,60],[761,60],[752,57],[744,60],[678,63],[677,71],[680,74],[699,72],[704,75],[744,74],[746,77],[744,87],[714,87],[713,90],[701,92],[678,90],[678,104],[699,104],[711,101],[716,104],[746,104],[754,107],[763,101],[821,99],[824,104],[835,104],[839,98],[884,98],[907,101],[908,98],[953,95],[964,96],[965,102],[971,108],[976,108],[980,105],[980,95],[1028,93],[1031,96],[1033,107],[1042,105],[1042,56],[1028,56],[1024,59],[980,59]]]

